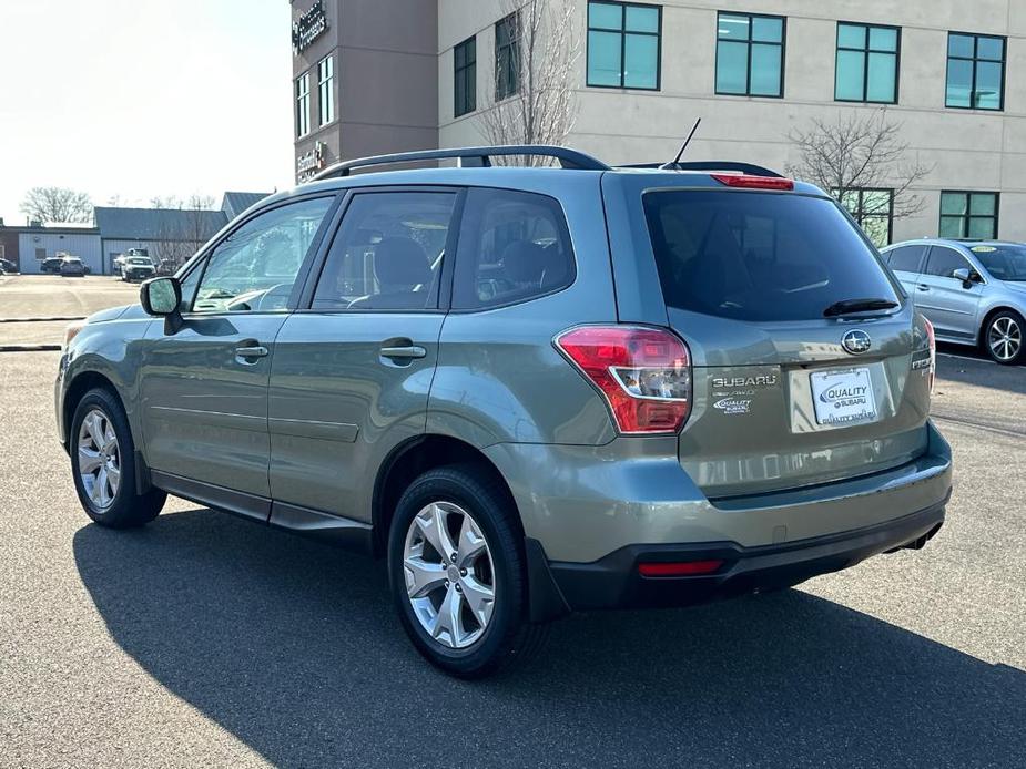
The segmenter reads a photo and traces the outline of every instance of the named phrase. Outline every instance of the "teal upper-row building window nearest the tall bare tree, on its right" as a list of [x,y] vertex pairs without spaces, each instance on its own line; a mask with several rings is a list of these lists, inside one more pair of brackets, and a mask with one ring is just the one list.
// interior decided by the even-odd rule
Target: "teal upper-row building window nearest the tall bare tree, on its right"
[[588,3],[588,85],[659,90],[662,7]]

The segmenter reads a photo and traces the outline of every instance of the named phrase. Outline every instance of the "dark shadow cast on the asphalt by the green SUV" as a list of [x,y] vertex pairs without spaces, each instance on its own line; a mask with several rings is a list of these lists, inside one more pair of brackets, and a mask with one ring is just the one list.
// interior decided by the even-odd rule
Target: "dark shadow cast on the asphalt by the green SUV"
[[[282,766],[1013,766],[1026,674],[801,591],[553,624],[479,683],[424,663],[380,563],[206,510],[75,534],[114,640]],[[1020,765],[1019,765],[1020,766]]]

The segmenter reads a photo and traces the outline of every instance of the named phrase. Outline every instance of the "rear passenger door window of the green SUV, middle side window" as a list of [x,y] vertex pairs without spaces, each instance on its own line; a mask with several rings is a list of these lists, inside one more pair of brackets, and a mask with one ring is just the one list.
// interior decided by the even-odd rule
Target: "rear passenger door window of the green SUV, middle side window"
[[430,309],[455,193],[364,193],[346,209],[314,309]]

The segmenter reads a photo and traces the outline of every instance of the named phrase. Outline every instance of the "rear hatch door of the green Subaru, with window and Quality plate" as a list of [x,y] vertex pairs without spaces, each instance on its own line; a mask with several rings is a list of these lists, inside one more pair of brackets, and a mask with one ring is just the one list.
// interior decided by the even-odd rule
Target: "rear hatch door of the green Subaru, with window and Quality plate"
[[687,178],[638,193],[664,322],[692,355],[680,462],[710,498],[829,483],[925,450],[925,329],[833,201]]

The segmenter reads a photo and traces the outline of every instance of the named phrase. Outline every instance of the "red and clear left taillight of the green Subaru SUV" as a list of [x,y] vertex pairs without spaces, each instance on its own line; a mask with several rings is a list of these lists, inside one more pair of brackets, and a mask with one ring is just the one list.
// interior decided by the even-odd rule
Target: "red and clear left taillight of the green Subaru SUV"
[[620,432],[677,432],[688,419],[691,357],[670,331],[580,326],[556,346],[601,390]]

